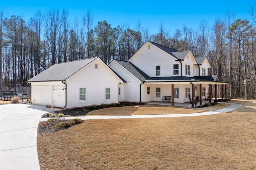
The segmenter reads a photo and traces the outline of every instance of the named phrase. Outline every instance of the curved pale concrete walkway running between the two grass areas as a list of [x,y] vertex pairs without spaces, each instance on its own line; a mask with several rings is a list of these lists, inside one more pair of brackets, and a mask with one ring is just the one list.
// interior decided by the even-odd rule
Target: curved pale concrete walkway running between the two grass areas
[[[76,116],[76,117],[64,117],[64,119],[74,119],[79,118],[82,120],[89,119],[128,119],[128,118],[156,118],[156,117],[188,117],[188,116],[202,116],[202,115],[214,115],[219,113],[225,113],[237,109],[243,106],[242,104],[228,103],[231,106],[225,107],[223,109],[214,111],[205,111],[201,113],[188,113],[188,114],[166,114],[166,115],[121,115],[121,116]],[[50,118],[41,118],[40,121],[47,121]]]

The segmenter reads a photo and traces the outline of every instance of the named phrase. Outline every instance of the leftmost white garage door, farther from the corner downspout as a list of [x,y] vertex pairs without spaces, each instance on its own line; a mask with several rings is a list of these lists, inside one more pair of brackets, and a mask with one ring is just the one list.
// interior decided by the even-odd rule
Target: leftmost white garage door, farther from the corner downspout
[[50,86],[33,86],[32,87],[32,102],[42,106],[50,104]]

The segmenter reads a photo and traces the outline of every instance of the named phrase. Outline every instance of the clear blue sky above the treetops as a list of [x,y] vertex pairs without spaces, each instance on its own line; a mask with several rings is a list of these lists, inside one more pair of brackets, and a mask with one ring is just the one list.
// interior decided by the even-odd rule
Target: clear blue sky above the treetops
[[212,27],[216,18],[224,18],[227,11],[235,12],[236,18],[251,20],[250,6],[256,8],[254,0],[2,0],[0,7],[7,17],[22,16],[27,22],[38,11],[42,14],[52,9],[63,8],[69,12],[69,20],[76,17],[81,21],[82,16],[90,10],[94,16],[94,26],[98,21],[106,20],[116,27],[127,25],[136,30],[140,20],[142,27],[148,28],[149,33],[158,33],[160,23],[166,31],[173,33],[175,29],[198,29],[201,21],[206,21]]

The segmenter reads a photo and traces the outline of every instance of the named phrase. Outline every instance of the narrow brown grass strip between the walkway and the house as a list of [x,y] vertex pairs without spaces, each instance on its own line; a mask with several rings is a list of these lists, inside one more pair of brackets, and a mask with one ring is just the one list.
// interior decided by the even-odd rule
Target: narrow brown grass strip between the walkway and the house
[[212,111],[230,106],[229,104],[218,104],[210,107],[182,108],[177,106],[162,106],[155,104],[146,104],[139,106],[109,107],[90,111],[87,115],[155,115],[155,114],[186,114],[200,113],[203,111]]

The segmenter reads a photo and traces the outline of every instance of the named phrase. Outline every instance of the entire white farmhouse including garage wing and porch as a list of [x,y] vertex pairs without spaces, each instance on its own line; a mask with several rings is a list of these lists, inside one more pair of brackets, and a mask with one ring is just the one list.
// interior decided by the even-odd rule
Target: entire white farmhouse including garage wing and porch
[[[207,57],[190,50],[177,51],[147,41],[129,61],[113,60],[107,66],[99,57],[54,64],[28,80],[33,104],[83,107],[118,102],[191,102],[212,99]],[[226,92],[225,92],[226,95]],[[215,99],[217,96],[215,93]]]

